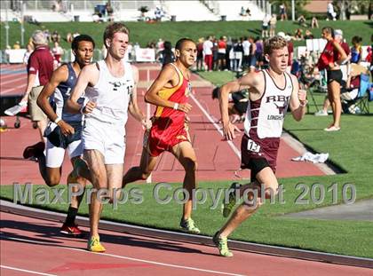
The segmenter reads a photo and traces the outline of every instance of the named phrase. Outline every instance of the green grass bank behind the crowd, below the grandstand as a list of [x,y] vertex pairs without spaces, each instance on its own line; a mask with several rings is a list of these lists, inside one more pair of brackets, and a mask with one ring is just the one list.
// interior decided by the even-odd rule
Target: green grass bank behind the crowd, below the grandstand
[[[183,21],[183,22],[159,22],[149,24],[147,22],[124,22],[131,31],[130,41],[132,43],[139,43],[141,47],[145,47],[147,43],[158,41],[160,37],[164,40],[169,40],[173,45],[181,37],[190,37],[195,41],[199,37],[206,37],[207,35],[221,35],[231,36],[232,38],[239,38],[245,35],[252,35],[254,37],[260,36],[261,21]],[[340,28],[344,31],[344,36],[347,43],[351,43],[353,35],[360,35],[362,37],[363,45],[370,45],[370,35],[372,33],[373,23],[369,20],[353,20],[353,21],[319,21],[320,28],[311,29],[315,38],[321,37],[321,28],[330,26],[332,28]],[[97,49],[102,47],[102,35],[107,23],[93,23],[93,22],[42,22],[39,25],[25,23],[25,42],[28,43],[28,38],[36,29],[48,29],[51,34],[57,30],[61,35],[61,46],[64,49],[70,48],[66,42],[67,33],[73,34],[75,31],[79,34],[91,35],[96,41]],[[306,28],[299,27],[298,23],[292,21],[278,21],[276,32],[285,32],[294,35],[297,28],[302,28],[305,33]],[[0,23],[1,42],[0,48],[5,49],[5,23]],[[21,42],[20,23],[9,22],[9,44],[12,46],[16,41]],[[51,44],[52,45],[52,44]],[[306,45],[305,41],[295,41],[295,46]]]

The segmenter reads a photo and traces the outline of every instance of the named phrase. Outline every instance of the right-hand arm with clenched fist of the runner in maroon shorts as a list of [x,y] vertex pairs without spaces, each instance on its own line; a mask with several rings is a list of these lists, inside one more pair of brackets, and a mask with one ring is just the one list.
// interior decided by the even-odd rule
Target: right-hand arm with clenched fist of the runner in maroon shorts
[[306,97],[307,93],[305,90],[299,89],[298,79],[295,75],[290,75],[291,81],[294,85],[293,91],[290,97],[290,110],[293,118],[296,121],[302,120],[306,114]]

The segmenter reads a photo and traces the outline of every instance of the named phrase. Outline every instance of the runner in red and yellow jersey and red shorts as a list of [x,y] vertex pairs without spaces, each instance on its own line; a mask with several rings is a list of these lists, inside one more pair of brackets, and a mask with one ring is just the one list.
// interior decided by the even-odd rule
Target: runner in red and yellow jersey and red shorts
[[189,67],[194,64],[196,55],[194,41],[180,39],[175,46],[176,61],[163,67],[147,91],[145,100],[156,106],[152,128],[145,133],[139,167],[131,168],[123,177],[123,186],[147,179],[155,169],[159,154],[171,152],[186,170],[183,185],[189,200],[184,204],[180,226],[188,233],[200,233],[191,217],[197,162],[187,131],[187,113],[192,108],[187,103],[191,91]]

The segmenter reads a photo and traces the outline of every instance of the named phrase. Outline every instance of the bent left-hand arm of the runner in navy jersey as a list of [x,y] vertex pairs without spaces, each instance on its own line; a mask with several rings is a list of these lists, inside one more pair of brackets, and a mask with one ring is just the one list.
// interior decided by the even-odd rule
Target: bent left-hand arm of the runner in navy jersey
[[[52,122],[54,122],[58,116],[54,112],[49,102],[49,98],[52,96],[57,86],[59,86],[60,83],[66,82],[67,78],[67,65],[62,65],[56,71],[53,72],[51,80],[44,86],[43,91],[41,91],[39,97],[37,97],[37,105],[40,106],[40,108],[42,108],[44,114],[46,114],[49,120],[51,120]],[[57,124],[60,126],[62,134],[74,134],[74,128],[67,122],[60,120],[60,122],[58,122]]]

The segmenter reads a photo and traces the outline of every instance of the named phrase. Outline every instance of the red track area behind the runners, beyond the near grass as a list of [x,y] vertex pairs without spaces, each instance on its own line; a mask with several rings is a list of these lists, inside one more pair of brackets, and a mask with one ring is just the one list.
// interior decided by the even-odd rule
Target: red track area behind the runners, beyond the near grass
[[[159,67],[155,65],[140,64],[140,81],[152,81],[159,72]],[[21,65],[2,65],[1,69],[1,95],[20,94],[26,86],[26,72]],[[202,83],[198,75],[193,75],[193,81]],[[23,85],[23,86],[22,86]],[[194,149],[198,160],[197,179],[199,181],[211,180],[237,180],[234,172],[239,169],[239,151],[242,134],[234,140],[232,146],[222,140],[217,128],[216,122],[219,117],[218,102],[211,99],[212,87],[209,83],[206,86],[195,87],[194,95],[190,103],[194,106],[189,114],[191,118],[190,132],[194,144]],[[201,86],[201,84],[199,85]],[[138,89],[139,106],[142,110],[153,113],[151,106],[147,107],[143,100],[143,94],[147,85]],[[12,129],[14,118],[5,117],[10,128],[2,132],[1,135],[1,153],[0,165],[2,167],[1,184],[19,183],[43,183],[39,176],[36,162],[25,161],[21,154],[25,146],[36,143],[38,139],[37,131],[32,128],[31,122],[22,119],[19,130]],[[211,122],[212,120],[212,122]],[[301,122],[300,122],[301,123]],[[242,127],[242,125],[240,126]],[[124,163],[124,170],[139,164],[142,151],[142,134],[139,123],[135,122],[131,116],[126,126],[127,129],[127,149]],[[291,162],[292,157],[298,156],[292,147],[282,139],[278,156],[278,177],[299,177],[299,176],[321,176],[323,172],[311,163]],[[63,177],[66,179],[67,173],[71,170],[67,158],[63,168]],[[248,178],[249,170],[241,171],[240,177]],[[181,182],[184,177],[184,170],[179,163],[169,153],[164,153],[160,157],[155,172],[153,173],[153,182]],[[62,180],[62,183],[65,181]]]

